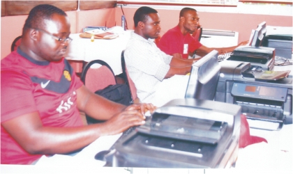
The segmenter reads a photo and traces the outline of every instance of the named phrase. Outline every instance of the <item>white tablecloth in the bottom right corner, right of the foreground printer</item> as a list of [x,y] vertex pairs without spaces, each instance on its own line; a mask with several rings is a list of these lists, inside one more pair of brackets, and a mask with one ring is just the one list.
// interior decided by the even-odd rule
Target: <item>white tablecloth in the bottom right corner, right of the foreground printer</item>
[[256,143],[240,149],[236,169],[255,173],[293,173],[293,130],[283,125],[280,131],[250,129],[250,134],[260,136],[268,143]]

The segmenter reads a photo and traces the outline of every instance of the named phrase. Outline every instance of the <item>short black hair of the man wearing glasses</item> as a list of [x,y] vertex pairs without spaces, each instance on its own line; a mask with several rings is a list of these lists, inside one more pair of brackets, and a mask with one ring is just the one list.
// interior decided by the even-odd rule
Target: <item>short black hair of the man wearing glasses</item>
[[40,4],[38,6],[35,6],[29,12],[29,16],[27,17],[24,23],[24,28],[22,29],[22,33],[30,28],[43,29],[43,26],[45,24],[44,19],[51,19],[52,15],[55,13],[67,16],[66,13],[60,8],[49,4]]

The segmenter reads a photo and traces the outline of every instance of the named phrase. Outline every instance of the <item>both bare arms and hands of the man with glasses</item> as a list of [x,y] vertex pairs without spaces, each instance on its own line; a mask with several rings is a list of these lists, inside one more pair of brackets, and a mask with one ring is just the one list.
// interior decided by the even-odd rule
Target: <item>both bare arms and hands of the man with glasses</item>
[[[128,107],[113,104],[89,92],[84,86],[77,90],[77,104],[92,116],[109,120],[82,127],[44,127],[38,112],[33,112],[2,122],[1,125],[30,154],[62,154],[83,148],[100,136],[119,134],[128,127],[142,125],[144,111],[149,109],[152,112],[156,109],[152,104],[133,104]],[[97,107],[95,104],[102,106]]]

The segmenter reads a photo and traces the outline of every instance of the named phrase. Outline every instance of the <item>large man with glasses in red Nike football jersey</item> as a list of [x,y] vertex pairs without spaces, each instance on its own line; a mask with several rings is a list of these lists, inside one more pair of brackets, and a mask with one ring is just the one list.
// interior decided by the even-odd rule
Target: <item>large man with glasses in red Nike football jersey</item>
[[[17,51],[1,60],[1,164],[80,150],[100,136],[144,124],[152,104],[128,107],[91,93],[63,57],[72,40],[63,10],[33,8]],[[100,124],[84,125],[80,111]]]

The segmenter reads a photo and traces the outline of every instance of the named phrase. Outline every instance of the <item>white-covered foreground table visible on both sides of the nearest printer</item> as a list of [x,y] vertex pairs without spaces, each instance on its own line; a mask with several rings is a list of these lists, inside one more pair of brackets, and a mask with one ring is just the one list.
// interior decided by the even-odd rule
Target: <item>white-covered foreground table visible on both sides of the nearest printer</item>
[[[82,171],[82,168],[89,172],[100,171],[105,162],[98,161],[93,157],[97,152],[108,150],[120,135],[100,137],[73,157],[68,155],[45,157],[44,155],[36,166],[45,166],[47,168],[75,166],[80,168],[80,171]],[[236,167],[234,168],[236,171],[257,171],[257,173],[292,171],[292,165],[290,165],[293,157],[292,125],[284,125],[280,131],[250,129],[250,135],[260,136],[266,139],[268,143],[255,143],[240,149]],[[140,172],[142,171],[147,172],[147,168],[144,168],[144,170],[141,168]],[[127,171],[125,172],[127,173]],[[188,171],[182,170],[180,173],[187,174]]]

